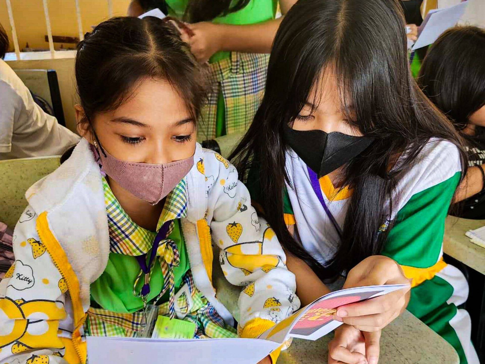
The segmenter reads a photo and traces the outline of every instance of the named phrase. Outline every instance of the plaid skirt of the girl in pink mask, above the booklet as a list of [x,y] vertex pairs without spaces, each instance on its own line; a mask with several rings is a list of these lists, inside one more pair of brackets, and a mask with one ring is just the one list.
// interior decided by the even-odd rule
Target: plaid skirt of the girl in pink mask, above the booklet
[[[188,310],[188,300],[185,293],[180,295],[177,305],[183,320],[195,324],[194,338],[227,338],[237,337],[236,330],[227,326],[210,302],[195,287],[192,272],[189,270],[184,277],[192,297],[193,306]],[[168,316],[169,304],[159,306],[158,314]],[[84,325],[87,336],[137,337],[142,329],[143,312],[133,314],[118,314],[112,311],[90,308]]]

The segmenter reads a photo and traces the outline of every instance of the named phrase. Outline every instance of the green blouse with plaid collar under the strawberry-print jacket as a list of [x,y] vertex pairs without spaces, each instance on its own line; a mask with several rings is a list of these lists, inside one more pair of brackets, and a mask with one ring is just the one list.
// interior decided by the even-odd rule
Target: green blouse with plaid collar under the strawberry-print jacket
[[[184,184],[185,181],[182,180],[180,183]],[[185,208],[185,204],[178,203],[178,191],[181,190],[179,187],[177,186],[167,196],[160,217],[163,222],[167,220],[164,217],[180,215],[181,210]],[[136,225],[131,220],[114,197],[110,186],[104,178],[103,188],[110,230],[110,254],[106,269],[96,281],[91,283],[91,304],[93,307],[103,308],[116,313],[134,313],[143,309],[142,299],[133,294],[133,284],[140,273],[140,265],[135,256],[140,255],[140,251],[149,252],[151,250],[156,233]],[[175,291],[177,292],[183,284],[183,277],[190,269],[179,219],[174,220],[173,230],[167,238],[175,242],[180,256],[180,264],[173,267]],[[152,268],[149,283],[150,294],[147,297],[148,302],[157,298],[162,292],[163,282],[162,268],[156,261]],[[142,285],[143,279],[140,279],[137,284],[138,292]],[[166,301],[168,301],[168,290],[158,303]]]

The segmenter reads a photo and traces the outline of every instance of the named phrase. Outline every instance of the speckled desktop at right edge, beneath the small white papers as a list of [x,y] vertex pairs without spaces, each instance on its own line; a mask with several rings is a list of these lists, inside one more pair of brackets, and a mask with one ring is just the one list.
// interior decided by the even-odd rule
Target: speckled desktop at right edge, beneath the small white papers
[[470,242],[465,232],[485,226],[485,220],[448,216],[445,223],[443,251],[470,268],[485,274],[485,248]]

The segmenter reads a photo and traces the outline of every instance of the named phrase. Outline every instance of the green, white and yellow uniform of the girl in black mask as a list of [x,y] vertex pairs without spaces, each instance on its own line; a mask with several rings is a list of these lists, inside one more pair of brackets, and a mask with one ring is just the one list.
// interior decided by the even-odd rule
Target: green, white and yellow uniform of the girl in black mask
[[[287,152],[286,170],[292,186],[287,185],[285,221],[295,224],[295,239],[325,265],[340,245],[339,235],[312,189],[307,165],[293,150]],[[468,283],[457,268],[442,260],[445,218],[460,176],[456,146],[431,139],[397,185],[388,216],[392,229],[382,254],[397,261],[413,279],[407,309],[450,342],[463,364],[478,363],[470,342],[469,314],[457,309],[468,297]],[[334,188],[328,176],[319,182],[330,212],[345,228],[352,191]]]

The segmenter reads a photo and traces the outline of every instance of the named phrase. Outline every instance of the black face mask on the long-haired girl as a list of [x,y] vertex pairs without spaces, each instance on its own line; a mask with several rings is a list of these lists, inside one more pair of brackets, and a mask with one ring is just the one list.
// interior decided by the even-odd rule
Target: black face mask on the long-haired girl
[[287,125],[283,128],[283,138],[318,178],[355,158],[374,140],[341,132],[293,130]]

